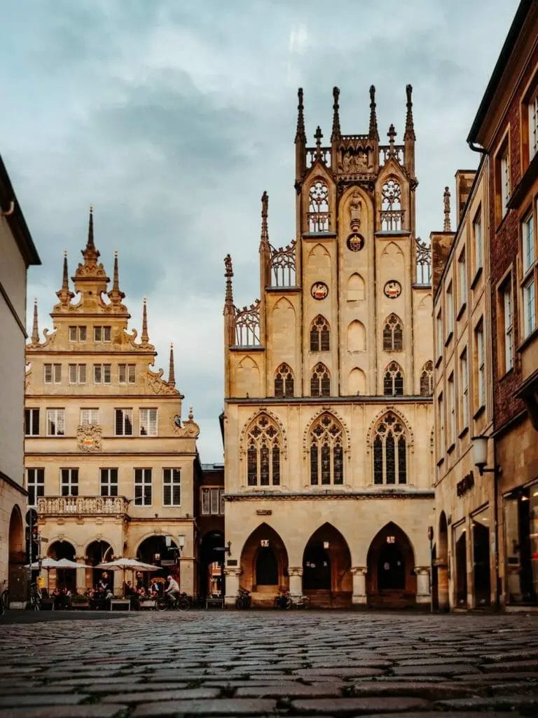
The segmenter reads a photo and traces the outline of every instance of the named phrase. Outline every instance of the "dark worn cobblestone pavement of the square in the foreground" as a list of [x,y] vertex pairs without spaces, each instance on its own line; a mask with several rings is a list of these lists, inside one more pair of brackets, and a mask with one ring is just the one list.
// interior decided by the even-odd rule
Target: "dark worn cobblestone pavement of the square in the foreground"
[[0,718],[538,716],[536,615],[72,615],[0,656]]

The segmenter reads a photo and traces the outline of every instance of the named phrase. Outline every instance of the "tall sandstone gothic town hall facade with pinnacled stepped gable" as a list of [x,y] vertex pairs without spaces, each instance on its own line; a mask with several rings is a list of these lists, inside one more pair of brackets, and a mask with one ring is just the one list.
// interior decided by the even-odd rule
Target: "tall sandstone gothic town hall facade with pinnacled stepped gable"
[[[296,131],[296,240],[270,242],[262,197],[260,299],[236,307],[225,259],[226,602],[430,601],[432,297],[415,236],[411,87],[403,144]],[[403,114],[403,113],[402,113]]]

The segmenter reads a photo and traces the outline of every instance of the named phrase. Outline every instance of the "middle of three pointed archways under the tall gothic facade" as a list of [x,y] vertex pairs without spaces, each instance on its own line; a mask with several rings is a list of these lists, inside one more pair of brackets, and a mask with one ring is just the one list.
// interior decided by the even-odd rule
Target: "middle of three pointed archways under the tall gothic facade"
[[347,607],[352,590],[349,546],[340,531],[324,523],[303,553],[303,592],[313,606]]

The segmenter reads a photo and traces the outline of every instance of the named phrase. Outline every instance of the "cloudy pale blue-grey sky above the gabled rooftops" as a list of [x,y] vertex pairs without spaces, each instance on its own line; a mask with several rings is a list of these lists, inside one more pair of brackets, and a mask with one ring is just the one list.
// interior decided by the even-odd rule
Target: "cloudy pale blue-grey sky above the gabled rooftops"
[[[310,144],[368,131],[402,141],[413,86],[418,234],[442,228],[443,187],[475,168],[466,136],[516,0],[24,0],[0,2],[0,153],[42,266],[29,271],[40,327],[85,245],[88,208],[109,274],[140,327],[148,298],[156,366],[176,354],[184,418],[194,404],[203,462],[222,461],[222,258],[236,304],[259,294],[260,196],[270,241],[295,232],[296,92]],[[392,12],[395,9],[395,12]]]

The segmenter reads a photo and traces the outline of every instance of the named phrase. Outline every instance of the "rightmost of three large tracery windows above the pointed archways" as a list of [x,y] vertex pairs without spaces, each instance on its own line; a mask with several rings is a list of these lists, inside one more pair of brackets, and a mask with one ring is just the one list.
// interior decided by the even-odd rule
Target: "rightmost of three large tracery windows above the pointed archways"
[[391,411],[377,424],[373,449],[374,484],[407,483],[405,428]]

